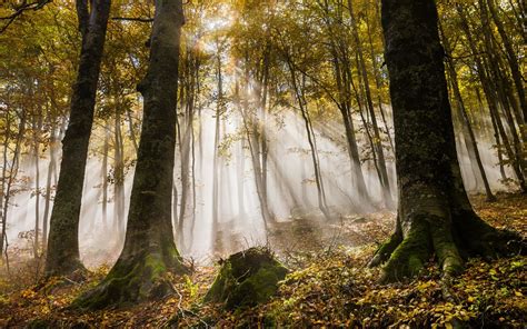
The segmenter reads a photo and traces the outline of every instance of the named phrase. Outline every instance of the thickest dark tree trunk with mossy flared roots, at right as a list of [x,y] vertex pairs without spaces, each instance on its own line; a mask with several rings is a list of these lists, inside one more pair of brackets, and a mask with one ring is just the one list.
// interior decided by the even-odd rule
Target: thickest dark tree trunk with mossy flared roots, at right
[[464,258],[503,255],[516,237],[485,223],[467,198],[437,19],[434,0],[382,0],[399,188],[396,232],[371,261],[387,261],[385,281],[418,273],[432,255],[455,275]]

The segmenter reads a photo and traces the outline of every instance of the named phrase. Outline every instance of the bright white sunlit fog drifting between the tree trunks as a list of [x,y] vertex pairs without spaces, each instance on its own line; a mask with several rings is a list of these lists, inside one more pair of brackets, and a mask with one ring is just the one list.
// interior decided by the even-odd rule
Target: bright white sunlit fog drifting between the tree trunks
[[[235,107],[229,107],[228,116],[219,120],[220,140],[218,144],[217,162],[217,223],[213,219],[213,179],[215,179],[215,134],[216,109],[203,110],[199,120],[193,123],[192,150],[190,150],[190,172],[193,182],[189,188],[189,202],[182,219],[182,231],[176,236],[178,249],[183,257],[199,262],[210,262],[216,256],[228,255],[249,246],[268,243],[266,222],[258,198],[255,175],[251,162],[251,150],[243,138],[245,127],[240,114]],[[357,121],[359,118],[355,118]],[[389,119],[389,118],[388,118]],[[389,129],[391,129],[391,120]],[[300,116],[284,111],[270,114],[266,120],[265,131],[268,141],[267,190],[268,208],[277,221],[288,221],[296,217],[328,220],[318,208],[318,190],[315,183],[314,162],[306,138],[306,130]],[[359,122],[357,122],[359,127]],[[125,129],[125,127],[122,127]],[[385,208],[382,192],[374,163],[367,152],[368,146],[365,132],[358,131],[358,142],[361,149],[362,171],[369,195],[369,205],[364,202],[365,196],[359,196],[355,188],[350,161],[346,150],[345,137],[341,133],[341,123],[335,121],[325,126],[314,127],[321,181],[329,220],[338,222],[342,217],[379,211]],[[96,146],[102,143],[103,129],[92,134],[90,159],[86,170],[83,199],[80,221],[80,252],[82,261],[89,267],[113,262],[123,243],[126,218],[133,176],[133,167],[126,170],[123,196],[116,197],[116,182],[111,177],[108,181],[108,203],[106,216],[102,207],[102,160],[96,151]],[[465,140],[457,133],[457,150],[461,164],[463,178],[470,193],[485,192],[481,177],[475,160],[470,158]],[[397,199],[394,154],[387,140],[384,141],[387,151],[390,193]],[[489,183],[494,191],[506,190],[501,183],[501,175],[497,152],[491,147],[489,137],[480,136],[478,149]],[[17,185],[17,193],[9,207],[8,241],[10,249],[31,250],[31,237],[34,230],[36,207],[39,202],[39,227],[46,209],[43,189],[46,187],[49,156],[41,153],[39,158],[41,191],[36,197],[34,156],[24,153],[21,158]],[[57,154],[57,161],[60,161]],[[175,192],[181,193],[180,152],[176,154]],[[507,175],[508,171],[507,171]],[[56,183],[58,172],[51,172],[51,182]],[[195,187],[195,191],[192,190]],[[119,195],[119,193],[118,193]],[[180,200],[180,195],[176,196]],[[123,202],[121,205],[121,202]],[[52,202],[51,202],[52,205]],[[49,205],[49,206],[51,206]],[[49,207],[48,206],[48,207]],[[172,205],[179,217],[181,205]],[[391,209],[395,211],[395,209]],[[172,217],[175,218],[175,217]],[[175,230],[179,230],[178,219],[173,221]],[[179,227],[178,227],[179,226]],[[215,230],[216,228],[216,230]],[[26,232],[26,233],[24,233]],[[272,247],[272,246],[271,246]]]

